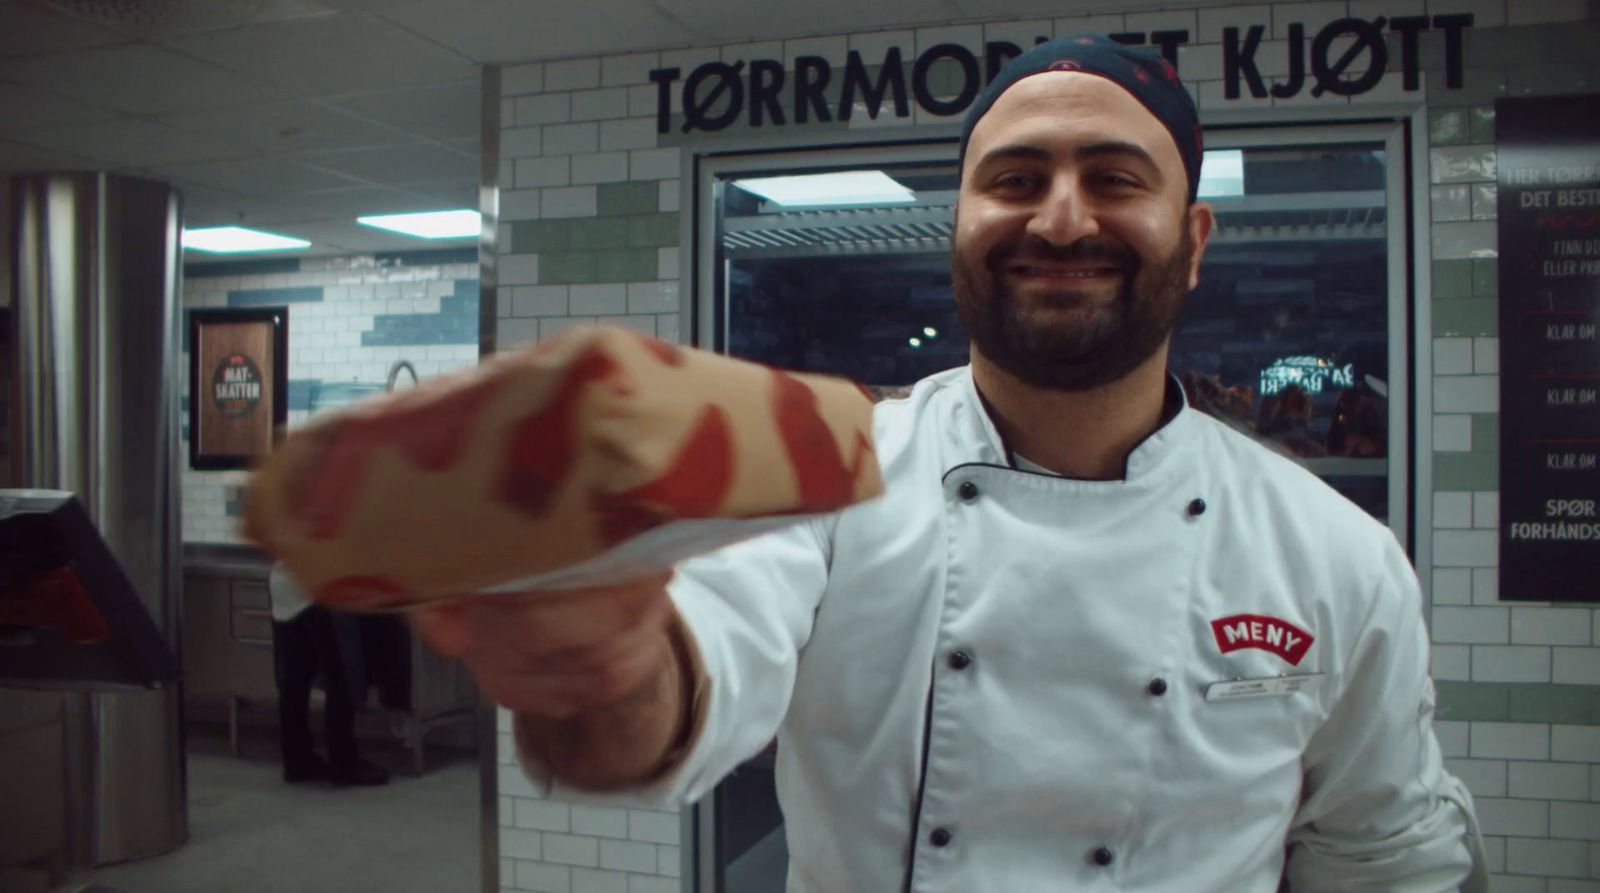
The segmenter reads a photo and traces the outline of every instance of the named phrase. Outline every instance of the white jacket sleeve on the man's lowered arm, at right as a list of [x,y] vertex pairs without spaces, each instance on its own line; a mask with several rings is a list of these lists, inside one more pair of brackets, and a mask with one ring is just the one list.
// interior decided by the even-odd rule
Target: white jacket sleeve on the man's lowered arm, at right
[[1475,890],[1483,859],[1472,799],[1443,768],[1422,597],[1392,539],[1354,642],[1341,695],[1306,751],[1288,888]]

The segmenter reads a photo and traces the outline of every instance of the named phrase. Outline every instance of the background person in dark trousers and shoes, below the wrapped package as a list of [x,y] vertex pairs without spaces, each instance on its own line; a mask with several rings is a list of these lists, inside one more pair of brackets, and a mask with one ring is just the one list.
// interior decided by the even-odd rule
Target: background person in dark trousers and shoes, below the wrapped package
[[[278,741],[283,781],[333,781],[338,786],[386,784],[389,773],[360,757],[355,744],[355,699],[339,653],[333,615],[306,599],[282,562],[267,578],[272,595],[272,669],[278,685]],[[310,688],[322,674],[323,735],[328,759],[312,749]]]

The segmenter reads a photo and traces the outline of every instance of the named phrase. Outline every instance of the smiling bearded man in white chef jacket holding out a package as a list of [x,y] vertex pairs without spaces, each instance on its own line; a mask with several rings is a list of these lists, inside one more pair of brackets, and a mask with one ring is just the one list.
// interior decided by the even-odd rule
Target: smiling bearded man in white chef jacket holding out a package
[[971,365],[878,406],[883,498],[419,619],[530,776],[674,803],[776,736],[803,893],[1475,887],[1405,554],[1166,371],[1200,152],[1154,54],[1013,59],[962,141]]

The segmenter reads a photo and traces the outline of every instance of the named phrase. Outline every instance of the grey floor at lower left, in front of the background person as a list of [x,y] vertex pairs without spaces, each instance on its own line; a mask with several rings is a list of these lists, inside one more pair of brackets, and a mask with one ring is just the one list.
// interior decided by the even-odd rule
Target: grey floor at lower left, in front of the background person
[[72,875],[125,893],[477,893],[478,763],[429,749],[422,778],[406,754],[363,746],[397,771],[381,787],[283,784],[272,743],[189,743],[189,843],[176,851]]

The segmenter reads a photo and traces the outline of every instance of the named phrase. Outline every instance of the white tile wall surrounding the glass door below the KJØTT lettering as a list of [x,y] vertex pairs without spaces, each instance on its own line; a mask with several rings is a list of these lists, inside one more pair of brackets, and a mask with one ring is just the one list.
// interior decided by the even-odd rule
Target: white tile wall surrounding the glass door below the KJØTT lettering
[[[1109,5],[1109,3],[1107,3]],[[920,48],[957,42],[979,48],[982,40],[1011,40],[1019,46],[1034,35],[1080,30],[1122,32],[1179,27],[1190,32],[1190,43],[1179,50],[1186,85],[1198,96],[1202,117],[1235,110],[1302,106],[1296,117],[1314,114],[1320,104],[1414,104],[1424,93],[1405,93],[1395,64],[1397,43],[1390,42],[1390,66],[1378,88],[1355,98],[1298,96],[1258,99],[1250,90],[1226,96],[1224,29],[1264,26],[1256,51],[1256,67],[1269,82],[1288,74],[1288,26],[1306,26],[1307,38],[1323,24],[1344,16],[1446,14],[1470,11],[1474,34],[1467,40],[1467,85],[1470,99],[1443,90],[1424,72],[1426,96],[1437,102],[1434,114],[1458,112],[1459,138],[1437,139],[1427,146],[1419,134],[1430,166],[1429,245],[1432,258],[1472,267],[1470,288],[1451,291],[1435,274],[1435,294],[1421,299],[1493,298],[1496,259],[1494,230],[1494,142],[1493,96],[1506,91],[1509,69],[1528,69],[1546,59],[1546,40],[1520,38],[1517,32],[1483,34],[1499,22],[1510,26],[1587,21],[1584,0],[1334,0],[1304,3],[1256,3],[1198,11],[1157,11],[1093,14],[987,24],[952,24],[902,30],[845,35],[816,35],[787,42],[664,50],[598,59],[571,59],[504,69],[502,93],[509,110],[502,166],[514,181],[502,187],[502,219],[514,237],[502,242],[501,262],[518,254],[541,256],[544,248],[518,242],[522,224],[531,221],[600,221],[614,213],[606,208],[610,189],[638,184],[654,189],[648,206],[629,206],[629,214],[672,214],[688,211],[693,197],[683,194],[680,178],[694,147],[715,146],[715,134],[685,134],[672,122],[670,133],[656,133],[658,90],[648,80],[654,67],[677,67],[686,77],[709,61],[749,61],[773,58],[792,61],[816,54],[840,62],[848,51],[859,51],[869,64],[890,46],[907,59]],[[1437,35],[1429,35],[1437,37]],[[1424,54],[1442,53],[1424,42]],[[1475,61],[1474,51],[1493,58]],[[1362,62],[1357,62],[1357,67]],[[1309,104],[1309,106],[1307,106]],[[1470,109],[1461,107],[1470,104]],[[680,115],[678,91],[667,96],[667,110]],[[1459,107],[1459,109],[1458,109]],[[1262,122],[1270,118],[1259,118]],[[1474,126],[1467,128],[1467,122]],[[886,136],[906,138],[923,126],[946,128],[949,118],[917,110],[915,120],[898,122],[880,115],[872,122],[854,115],[851,128],[890,128]],[[906,130],[912,128],[912,131]],[[805,146],[805,136],[795,136]],[[595,248],[622,248],[624,243]],[[634,246],[634,245],[627,245]],[[498,304],[498,342],[512,347],[549,338],[558,331],[597,322],[627,325],[677,341],[686,336],[680,325],[680,282],[690,272],[686,246],[677,242],[653,245],[653,262],[595,269],[571,275],[565,264],[512,267],[522,278]],[[515,251],[515,254],[512,254]],[[558,254],[558,250],[550,250]],[[554,256],[554,254],[552,254]],[[648,261],[648,258],[645,258]],[[598,261],[602,266],[605,258]],[[618,272],[624,270],[626,272]],[[502,267],[504,270],[504,267]],[[509,282],[501,275],[501,282]],[[1459,282],[1459,280],[1453,280]],[[1453,301],[1454,304],[1464,304]],[[1493,309],[1490,310],[1493,314]],[[1432,456],[1434,493],[1419,495],[1419,536],[1432,546],[1432,560],[1421,575],[1430,599],[1434,631],[1434,672],[1450,685],[1597,685],[1600,683],[1600,611],[1592,607],[1550,607],[1501,602],[1498,563],[1499,493],[1491,471],[1496,455],[1499,413],[1499,339],[1493,326],[1470,330],[1443,320],[1435,312],[1435,338],[1418,357],[1416,387],[1432,395],[1427,426]],[[1600,600],[1600,597],[1597,597]],[[1600,728],[1541,722],[1475,722],[1443,717],[1435,723],[1445,754],[1482,797],[1491,823],[1488,853],[1496,872],[1496,890],[1515,893],[1595,893],[1600,883],[1600,843],[1594,843],[1595,816],[1590,795],[1600,802]],[[502,736],[501,763],[510,767],[509,736]],[[506,890],[627,890],[629,893],[672,890],[680,880],[680,816],[650,810],[586,810],[531,797],[520,771],[501,773],[502,829],[539,834],[538,840],[518,837],[518,851],[506,851]],[[1555,811],[1554,805],[1581,805],[1584,810]],[[544,827],[549,826],[549,827]],[[552,842],[555,839],[555,850]],[[589,843],[582,843],[587,840]],[[1546,847],[1550,845],[1550,847]],[[650,848],[654,847],[654,863]],[[1586,850],[1587,847],[1587,850]],[[554,853],[554,855],[552,855]],[[1582,856],[1582,858],[1579,858]],[[1576,874],[1558,874],[1546,866],[1562,866]],[[1579,872],[1579,869],[1582,869]],[[1584,874],[1587,872],[1587,874]],[[1558,887],[1563,885],[1563,887]]]

